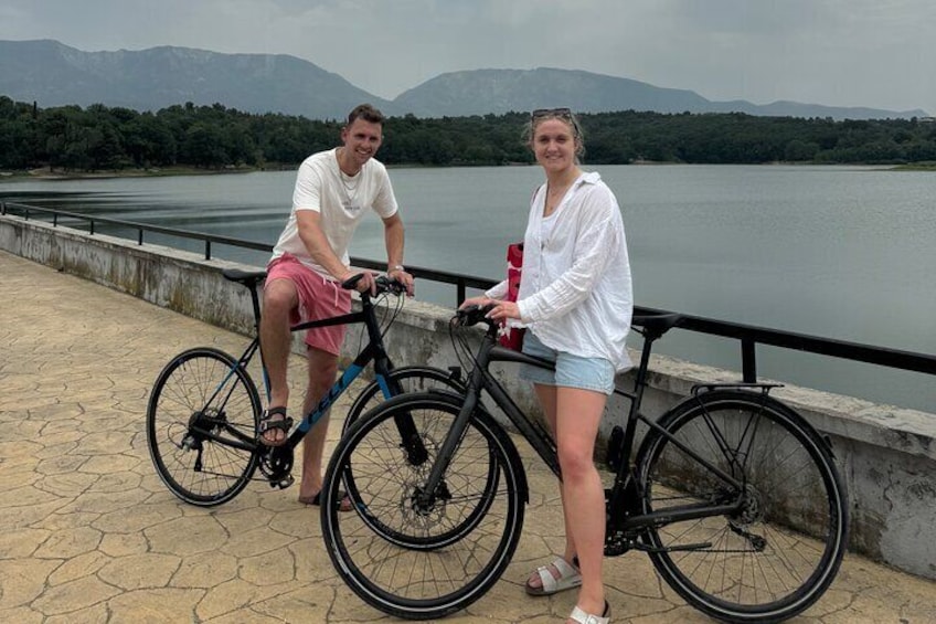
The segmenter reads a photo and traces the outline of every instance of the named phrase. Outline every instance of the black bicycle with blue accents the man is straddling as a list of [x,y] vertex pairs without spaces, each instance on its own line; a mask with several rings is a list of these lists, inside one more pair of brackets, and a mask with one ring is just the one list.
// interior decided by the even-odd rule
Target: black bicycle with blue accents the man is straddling
[[[266,272],[225,269],[223,274],[249,289],[255,338],[240,358],[213,347],[196,347],[179,353],[159,373],[147,408],[147,445],[152,463],[162,482],[185,503],[203,507],[226,503],[247,486],[257,468],[263,475],[259,480],[272,487],[291,485],[295,447],[371,362],[375,379],[353,402],[345,417],[349,423],[384,399],[402,392],[435,387],[464,390],[457,368],[445,371],[429,367],[393,367],[383,336],[402,308],[405,288],[380,276],[376,278],[375,297],[372,298],[369,293],[361,295],[360,311],[302,322],[291,328],[299,331],[363,324],[368,341],[318,405],[294,426],[288,441],[281,446],[266,446],[258,435],[263,410],[260,396],[247,371],[259,349],[256,337],[260,319],[257,287]],[[353,289],[360,277],[352,277],[341,286]],[[395,297],[395,304],[381,305],[390,297]],[[382,317],[379,317],[380,310],[383,310]],[[268,392],[265,369],[262,374]],[[400,436],[408,438],[416,435],[411,421],[397,419],[397,424]]]

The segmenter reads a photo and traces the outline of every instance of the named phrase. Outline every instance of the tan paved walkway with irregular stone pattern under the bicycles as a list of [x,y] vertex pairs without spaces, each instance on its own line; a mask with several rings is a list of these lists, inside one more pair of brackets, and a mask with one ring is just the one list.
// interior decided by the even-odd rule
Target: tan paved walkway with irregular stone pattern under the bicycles
[[[297,486],[256,484],[201,509],[157,478],[143,432],[157,373],[184,348],[244,343],[0,252],[0,622],[395,622],[336,575],[318,515],[296,501]],[[298,358],[294,364],[301,370]],[[546,624],[572,609],[574,592],[522,591],[528,571],[561,543],[552,479],[531,463],[530,482],[513,563],[446,622]],[[608,560],[607,578],[614,622],[708,621],[640,553]],[[797,622],[936,622],[936,583],[847,557],[831,590]]]

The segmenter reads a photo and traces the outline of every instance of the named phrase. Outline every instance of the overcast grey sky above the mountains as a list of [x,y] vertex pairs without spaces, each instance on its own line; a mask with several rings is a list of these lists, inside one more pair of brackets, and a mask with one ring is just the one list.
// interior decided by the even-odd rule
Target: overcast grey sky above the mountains
[[394,98],[561,67],[709,99],[936,115],[934,0],[0,0],[0,40],[291,54]]

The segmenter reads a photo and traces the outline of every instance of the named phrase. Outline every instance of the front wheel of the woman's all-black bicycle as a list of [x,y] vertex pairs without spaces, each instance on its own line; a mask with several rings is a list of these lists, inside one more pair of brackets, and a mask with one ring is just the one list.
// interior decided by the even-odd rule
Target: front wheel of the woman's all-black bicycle
[[[481,597],[510,562],[523,526],[526,479],[517,448],[486,412],[472,416],[445,474],[446,490],[432,507],[419,509],[414,495],[436,458],[438,447],[457,417],[460,402],[438,393],[402,394],[364,414],[338,443],[326,472],[327,500],[339,496],[350,470],[359,498],[352,512],[336,506],[321,509],[322,535],[332,564],[364,602],[379,611],[410,620],[444,617]],[[427,442],[429,461],[408,464],[394,419],[412,417]],[[499,465],[494,489],[478,478],[479,457]],[[487,468],[482,468],[487,472]],[[485,484],[479,487],[479,484]],[[481,498],[490,500],[485,504]],[[414,548],[416,527],[461,525],[465,514],[485,507],[471,531],[445,547]],[[390,531],[408,527],[391,539]]]

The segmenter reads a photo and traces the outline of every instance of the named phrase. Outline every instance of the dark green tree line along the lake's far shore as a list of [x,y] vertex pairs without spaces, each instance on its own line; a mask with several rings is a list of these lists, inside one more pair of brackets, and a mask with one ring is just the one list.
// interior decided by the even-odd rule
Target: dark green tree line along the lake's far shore
[[[529,163],[525,113],[391,117],[379,158],[387,165]],[[912,163],[936,161],[936,123],[843,120],[635,110],[583,114],[585,162]],[[95,104],[39,108],[0,96],[0,168],[66,171],[294,166],[340,141],[341,119],[248,114],[221,104],[156,113]]]

